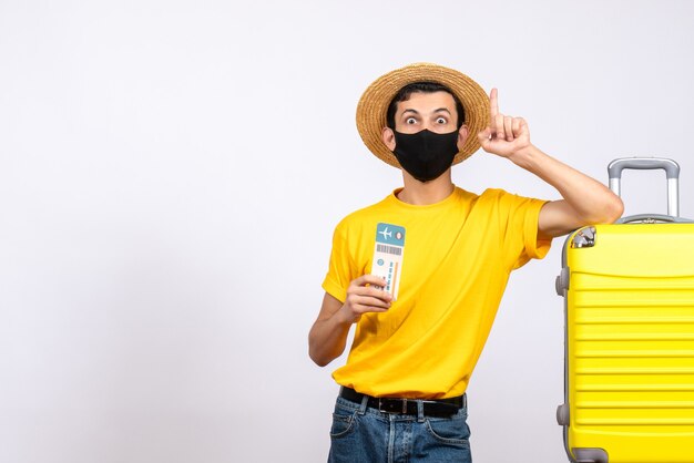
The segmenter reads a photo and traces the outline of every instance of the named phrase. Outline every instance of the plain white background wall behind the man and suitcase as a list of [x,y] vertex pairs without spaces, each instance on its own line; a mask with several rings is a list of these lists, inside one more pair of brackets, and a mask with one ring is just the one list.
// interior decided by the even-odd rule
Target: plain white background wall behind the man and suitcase
[[[694,217],[692,43],[688,1],[0,0],[0,462],[325,461],[333,228],[401,182],[357,134],[364,89],[459,69],[603,182],[675,158]],[[642,174],[627,213],[664,213]],[[486,153],[453,179],[558,197]],[[567,461],[562,243],[512,276],[472,379],[478,463]]]

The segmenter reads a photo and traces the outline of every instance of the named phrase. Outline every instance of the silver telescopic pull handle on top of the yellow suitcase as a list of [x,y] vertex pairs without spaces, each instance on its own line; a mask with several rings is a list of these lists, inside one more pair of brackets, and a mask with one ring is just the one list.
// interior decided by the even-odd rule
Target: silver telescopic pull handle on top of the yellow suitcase
[[656,169],[662,168],[667,176],[667,215],[680,216],[680,165],[664,157],[622,157],[608,166],[610,189],[618,196],[621,194],[622,171],[625,168]]

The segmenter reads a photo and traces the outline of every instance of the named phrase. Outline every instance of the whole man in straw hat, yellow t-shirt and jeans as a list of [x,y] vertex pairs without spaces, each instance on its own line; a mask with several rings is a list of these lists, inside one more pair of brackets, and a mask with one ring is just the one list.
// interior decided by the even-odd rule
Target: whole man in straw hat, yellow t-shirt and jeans
[[[496,89],[488,97],[451,69],[420,63],[377,79],[357,126],[404,186],[335,229],[310,358],[328,364],[356,331],[333,374],[329,462],[470,462],[465,392],[509,274],[544,257],[553,237],[615,220],[622,202],[538,150],[525,121],[499,112]],[[562,199],[456,187],[451,166],[480,146]]]

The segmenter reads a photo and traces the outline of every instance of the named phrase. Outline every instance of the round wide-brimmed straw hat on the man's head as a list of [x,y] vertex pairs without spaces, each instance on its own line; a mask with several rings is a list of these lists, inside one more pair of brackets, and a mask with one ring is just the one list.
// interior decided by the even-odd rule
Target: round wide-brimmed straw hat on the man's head
[[465,124],[470,135],[462,150],[453,158],[458,164],[479,150],[477,134],[489,124],[489,96],[482,88],[466,74],[453,69],[430,63],[415,63],[396,69],[378,78],[361,95],[357,105],[357,130],[366,146],[379,160],[400,167],[398,160],[381,138],[386,126],[386,113],[394,96],[414,82],[436,82],[456,94],[465,109]]

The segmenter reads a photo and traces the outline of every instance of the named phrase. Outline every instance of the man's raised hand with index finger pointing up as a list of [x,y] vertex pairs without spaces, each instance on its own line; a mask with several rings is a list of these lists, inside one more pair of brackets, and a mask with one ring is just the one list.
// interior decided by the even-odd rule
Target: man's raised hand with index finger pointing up
[[530,146],[530,130],[522,117],[499,112],[497,89],[489,94],[489,125],[477,135],[482,150],[501,157],[511,157]]

